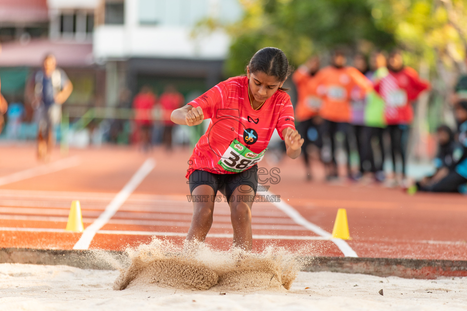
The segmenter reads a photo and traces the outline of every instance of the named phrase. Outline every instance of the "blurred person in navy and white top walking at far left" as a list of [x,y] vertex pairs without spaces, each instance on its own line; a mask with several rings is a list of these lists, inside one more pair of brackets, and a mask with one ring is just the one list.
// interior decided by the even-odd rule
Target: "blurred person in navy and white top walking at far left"
[[37,157],[47,160],[55,145],[54,129],[62,117],[62,104],[70,97],[73,84],[66,73],[57,68],[57,59],[48,54],[26,87],[26,96],[35,109],[38,123]]

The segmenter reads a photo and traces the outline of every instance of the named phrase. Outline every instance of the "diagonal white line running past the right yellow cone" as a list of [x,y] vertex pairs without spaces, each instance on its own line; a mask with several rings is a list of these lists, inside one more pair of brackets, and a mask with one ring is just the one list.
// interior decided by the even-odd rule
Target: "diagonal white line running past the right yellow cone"
[[[261,195],[273,195],[271,192],[265,192],[265,191],[258,191],[258,194]],[[335,239],[331,238],[331,234],[321,228],[319,228],[317,225],[314,223],[311,223],[310,221],[307,221],[298,211],[291,207],[289,204],[283,202],[282,200],[279,202],[271,202],[274,206],[279,208],[281,211],[283,211],[285,214],[289,215],[293,221],[295,221],[297,224],[307,228],[308,230],[313,231],[317,235],[321,237],[325,237],[326,239],[330,239],[331,241],[336,244],[336,246],[340,249],[342,254],[346,257],[358,257],[357,253],[347,244],[342,239]]]

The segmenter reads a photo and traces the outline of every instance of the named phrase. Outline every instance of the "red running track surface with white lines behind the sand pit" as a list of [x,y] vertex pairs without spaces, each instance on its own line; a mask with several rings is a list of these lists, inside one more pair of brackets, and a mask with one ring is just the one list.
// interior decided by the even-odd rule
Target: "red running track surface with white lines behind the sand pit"
[[[156,149],[143,154],[136,149],[103,147],[71,150],[77,166],[0,186],[0,247],[71,249],[81,234],[62,232],[71,200],[80,200],[85,227],[89,226],[124,187],[145,159],[156,167],[136,188],[117,213],[94,236],[91,249],[124,249],[149,242],[150,234],[181,243],[191,221],[191,203],[184,178],[191,151],[167,154]],[[0,146],[0,180],[4,176],[40,166],[34,146]],[[60,159],[58,150],[51,163]],[[263,161],[265,162],[265,161]],[[268,170],[272,166],[263,163]],[[457,194],[416,194],[378,185],[348,183],[329,185],[305,182],[302,162],[291,159],[275,165],[280,182],[269,192],[295,208],[306,220],[331,232],[337,209],[347,209],[347,241],[360,257],[467,260],[467,197]],[[254,203],[254,248],[274,243],[306,249],[318,256],[343,256],[329,240],[298,225],[272,203]],[[20,230],[20,231],[18,231]],[[121,232],[125,231],[125,232]],[[129,232],[131,231],[131,232]],[[136,232],[135,232],[136,231]],[[230,247],[230,214],[225,202],[216,203],[214,224],[207,240],[214,247]],[[220,237],[219,237],[220,235]],[[271,235],[309,237],[307,240],[271,238]]]

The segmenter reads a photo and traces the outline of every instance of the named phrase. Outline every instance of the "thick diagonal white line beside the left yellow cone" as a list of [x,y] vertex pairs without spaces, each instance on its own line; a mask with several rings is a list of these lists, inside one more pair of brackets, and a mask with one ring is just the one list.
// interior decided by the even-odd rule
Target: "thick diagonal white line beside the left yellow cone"
[[120,192],[113,198],[113,200],[107,205],[106,209],[99,217],[83,231],[83,235],[76,242],[73,249],[88,249],[89,244],[91,244],[94,235],[96,232],[102,228],[117,212],[120,206],[127,200],[130,194],[139,186],[139,184],[144,180],[146,176],[152,171],[156,166],[156,161],[154,159],[147,159],[144,161],[142,166],[138,169],[128,183],[120,190]]

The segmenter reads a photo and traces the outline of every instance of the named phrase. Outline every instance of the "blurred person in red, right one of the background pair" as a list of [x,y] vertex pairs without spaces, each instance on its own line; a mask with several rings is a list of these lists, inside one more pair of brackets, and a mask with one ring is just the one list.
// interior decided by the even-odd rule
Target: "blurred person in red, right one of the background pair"
[[159,99],[159,103],[163,109],[164,117],[164,131],[163,131],[163,144],[167,150],[172,149],[172,131],[175,123],[170,121],[170,114],[175,109],[178,109],[184,104],[184,97],[177,91],[174,85],[168,84]]

